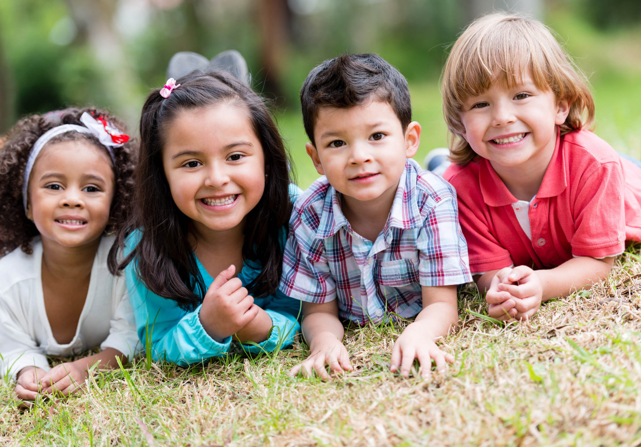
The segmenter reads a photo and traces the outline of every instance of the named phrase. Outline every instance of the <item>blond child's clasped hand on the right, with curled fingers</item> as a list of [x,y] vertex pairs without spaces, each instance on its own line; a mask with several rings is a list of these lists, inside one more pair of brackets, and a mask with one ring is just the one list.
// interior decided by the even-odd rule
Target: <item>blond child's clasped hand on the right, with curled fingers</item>
[[500,293],[508,293],[514,301],[515,320],[529,320],[538,311],[543,297],[543,284],[537,272],[520,265],[512,269],[505,280],[497,284]]

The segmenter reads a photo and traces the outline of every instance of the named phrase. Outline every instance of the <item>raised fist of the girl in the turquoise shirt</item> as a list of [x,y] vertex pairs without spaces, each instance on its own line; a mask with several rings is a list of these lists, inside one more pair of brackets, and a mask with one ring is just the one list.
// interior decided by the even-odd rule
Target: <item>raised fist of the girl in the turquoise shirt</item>
[[199,314],[204,330],[217,341],[245,327],[260,309],[242,281],[234,277],[234,271],[235,267],[230,265],[213,280]]

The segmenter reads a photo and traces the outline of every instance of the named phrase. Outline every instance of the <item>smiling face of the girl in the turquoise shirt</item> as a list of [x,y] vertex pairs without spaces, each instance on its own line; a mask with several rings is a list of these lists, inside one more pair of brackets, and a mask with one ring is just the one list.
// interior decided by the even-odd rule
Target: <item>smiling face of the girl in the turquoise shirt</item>
[[235,104],[183,110],[162,153],[172,199],[197,229],[245,222],[265,190],[265,158],[249,111]]

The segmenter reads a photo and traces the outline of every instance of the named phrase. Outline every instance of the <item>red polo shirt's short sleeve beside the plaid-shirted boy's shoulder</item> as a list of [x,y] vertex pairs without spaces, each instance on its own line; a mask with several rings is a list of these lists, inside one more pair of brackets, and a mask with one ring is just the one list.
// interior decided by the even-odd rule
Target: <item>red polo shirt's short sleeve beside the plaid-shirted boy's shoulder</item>
[[459,222],[467,241],[472,275],[514,265],[510,252],[493,233],[485,202],[480,198],[474,200],[464,187],[457,190],[457,195]]

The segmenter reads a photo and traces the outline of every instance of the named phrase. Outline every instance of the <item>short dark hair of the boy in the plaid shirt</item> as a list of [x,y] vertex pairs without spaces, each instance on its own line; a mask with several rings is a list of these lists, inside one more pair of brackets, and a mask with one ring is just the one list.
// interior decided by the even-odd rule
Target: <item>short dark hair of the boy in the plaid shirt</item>
[[412,121],[412,101],[405,77],[378,54],[341,54],[307,75],[301,87],[305,132],[314,142],[321,106],[349,108],[369,99],[390,104],[403,131]]

